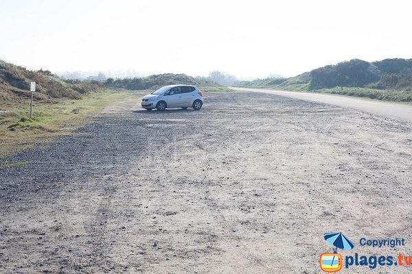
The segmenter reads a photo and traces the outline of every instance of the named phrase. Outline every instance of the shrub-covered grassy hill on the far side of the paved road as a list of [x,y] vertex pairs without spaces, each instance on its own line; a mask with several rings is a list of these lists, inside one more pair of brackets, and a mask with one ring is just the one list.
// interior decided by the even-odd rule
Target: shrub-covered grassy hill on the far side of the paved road
[[235,86],[325,92],[411,102],[412,59],[386,59],[377,62],[355,59],[323,66],[287,79],[255,79],[238,82]]

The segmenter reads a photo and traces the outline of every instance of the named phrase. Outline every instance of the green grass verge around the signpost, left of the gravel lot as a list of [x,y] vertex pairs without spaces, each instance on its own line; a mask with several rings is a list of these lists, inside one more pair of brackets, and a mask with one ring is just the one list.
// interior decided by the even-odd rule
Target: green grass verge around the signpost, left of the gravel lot
[[[104,108],[135,100],[132,96],[134,93],[136,92],[105,90],[82,95],[82,99],[34,101],[33,119],[29,118],[30,99],[3,99],[0,101],[0,158],[47,142],[50,136],[69,134]],[[145,92],[137,93],[143,95]]]

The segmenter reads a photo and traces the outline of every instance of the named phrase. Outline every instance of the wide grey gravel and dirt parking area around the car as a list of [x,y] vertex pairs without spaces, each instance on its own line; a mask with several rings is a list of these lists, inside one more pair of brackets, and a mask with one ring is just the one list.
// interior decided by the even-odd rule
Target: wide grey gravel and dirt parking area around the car
[[256,92],[206,92],[198,112],[130,96],[0,169],[0,273],[321,273],[325,232],[412,255],[411,123]]

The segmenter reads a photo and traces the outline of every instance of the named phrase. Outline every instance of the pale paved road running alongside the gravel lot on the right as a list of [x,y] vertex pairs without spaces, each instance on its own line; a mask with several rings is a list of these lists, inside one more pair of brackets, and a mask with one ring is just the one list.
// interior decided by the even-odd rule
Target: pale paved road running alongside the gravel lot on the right
[[238,91],[249,92],[264,92],[273,95],[286,96],[289,98],[301,99],[306,101],[314,101],[318,103],[328,103],[330,105],[338,105],[342,108],[352,108],[372,114],[398,119],[401,121],[412,122],[412,105],[404,105],[400,103],[388,103],[376,100],[345,97],[339,95],[325,95],[319,93],[308,92],[293,92],[283,90],[266,90],[261,88],[232,88]]

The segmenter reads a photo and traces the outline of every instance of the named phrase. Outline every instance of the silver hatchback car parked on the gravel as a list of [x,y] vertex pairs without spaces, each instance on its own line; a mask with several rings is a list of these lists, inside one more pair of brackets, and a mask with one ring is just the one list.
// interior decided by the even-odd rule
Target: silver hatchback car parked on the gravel
[[141,108],[165,110],[192,107],[194,110],[200,110],[204,101],[203,93],[197,86],[172,85],[163,86],[150,95],[145,95],[141,99]]

